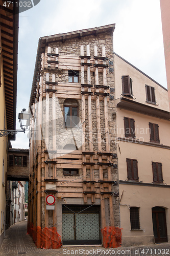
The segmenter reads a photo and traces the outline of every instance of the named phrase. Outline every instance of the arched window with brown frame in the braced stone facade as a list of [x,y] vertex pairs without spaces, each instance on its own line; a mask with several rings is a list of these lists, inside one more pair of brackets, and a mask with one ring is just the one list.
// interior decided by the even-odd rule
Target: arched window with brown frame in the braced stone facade
[[75,99],[66,99],[64,101],[64,123],[65,127],[74,127],[79,123],[78,102]]

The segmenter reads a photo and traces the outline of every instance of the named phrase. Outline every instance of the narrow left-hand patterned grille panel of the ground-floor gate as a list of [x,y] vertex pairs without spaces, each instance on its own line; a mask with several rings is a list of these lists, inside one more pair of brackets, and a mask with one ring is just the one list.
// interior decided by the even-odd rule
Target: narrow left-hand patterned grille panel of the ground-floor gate
[[62,214],[63,240],[75,240],[74,214]]

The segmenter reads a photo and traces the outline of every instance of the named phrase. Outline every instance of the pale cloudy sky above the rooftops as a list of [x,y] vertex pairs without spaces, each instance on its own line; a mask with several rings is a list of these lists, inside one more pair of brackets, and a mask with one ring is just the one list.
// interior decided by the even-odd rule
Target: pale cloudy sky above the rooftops
[[[19,14],[17,130],[18,113],[28,110],[38,39],[113,23],[114,52],[167,88],[160,0],[41,0]],[[27,132],[12,147],[29,148]]]

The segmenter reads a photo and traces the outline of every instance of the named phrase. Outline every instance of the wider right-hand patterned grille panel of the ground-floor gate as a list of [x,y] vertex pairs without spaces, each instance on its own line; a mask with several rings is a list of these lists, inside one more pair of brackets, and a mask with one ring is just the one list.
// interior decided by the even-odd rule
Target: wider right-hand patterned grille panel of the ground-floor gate
[[76,240],[99,239],[99,214],[77,214]]

